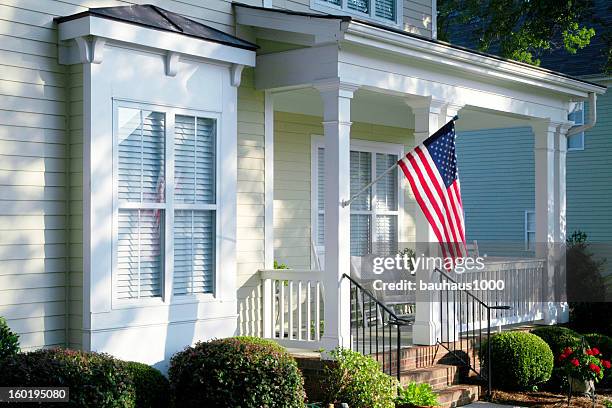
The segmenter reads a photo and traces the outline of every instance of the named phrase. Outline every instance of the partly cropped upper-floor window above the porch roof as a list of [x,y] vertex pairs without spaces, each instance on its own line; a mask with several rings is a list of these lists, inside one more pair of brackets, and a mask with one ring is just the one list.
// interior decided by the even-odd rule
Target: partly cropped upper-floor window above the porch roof
[[[400,24],[403,0],[311,0],[311,7],[335,14],[350,14],[381,23]],[[340,12],[340,13],[338,13]]]

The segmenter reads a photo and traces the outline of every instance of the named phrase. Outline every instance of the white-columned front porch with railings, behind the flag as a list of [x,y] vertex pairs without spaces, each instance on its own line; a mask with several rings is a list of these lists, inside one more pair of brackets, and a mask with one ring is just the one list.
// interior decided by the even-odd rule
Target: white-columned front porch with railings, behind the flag
[[[554,278],[563,273],[556,246],[566,234],[567,115],[572,102],[597,89],[360,22],[246,6],[236,6],[236,15],[245,33],[266,40],[255,71],[256,87],[266,91],[266,265],[260,270],[261,290],[244,302],[250,309],[240,310],[244,334],[294,348],[364,350],[371,331],[390,329],[384,350],[455,342],[508,324],[567,319],[553,289]],[[286,43],[274,40],[281,34]],[[489,262],[479,276],[507,279],[503,299],[468,295],[488,309],[511,309],[492,309],[484,319],[462,309],[458,293],[424,292],[405,302],[414,304],[412,316],[397,329],[394,309],[381,312],[383,301],[366,306],[367,291],[352,286],[352,258],[380,248],[393,254],[404,249],[401,243],[429,244],[435,235],[400,173],[350,207],[341,203],[388,168],[392,157],[399,159],[457,114],[459,130],[532,129],[531,239],[540,245],[529,258]],[[291,269],[273,270],[274,260]],[[455,277],[468,278],[473,277]],[[416,279],[446,278],[418,269]]]

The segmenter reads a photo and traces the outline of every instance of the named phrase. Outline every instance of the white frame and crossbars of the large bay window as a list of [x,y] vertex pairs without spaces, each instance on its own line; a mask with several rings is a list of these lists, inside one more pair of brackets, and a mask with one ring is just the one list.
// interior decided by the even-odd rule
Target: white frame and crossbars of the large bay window
[[[165,203],[150,203],[152,208],[163,208],[164,210],[164,231],[161,239],[162,270],[161,270],[161,296],[155,298],[141,299],[118,299],[116,296],[117,288],[117,270],[118,270],[118,233],[119,233],[119,209],[128,208],[131,204],[124,203],[120,206],[118,198],[118,164],[119,164],[119,140],[117,110],[119,108],[144,109],[154,112],[161,112],[165,115]],[[142,306],[159,306],[169,304],[208,302],[216,300],[217,289],[219,288],[219,270],[220,257],[219,248],[220,240],[220,217],[219,208],[221,207],[219,200],[220,186],[220,171],[219,157],[220,145],[219,135],[222,135],[222,116],[218,112],[200,111],[185,108],[177,108],[166,105],[156,105],[145,102],[131,101],[126,99],[115,99],[112,101],[113,115],[113,165],[112,165],[112,184],[113,184],[113,226],[112,226],[112,271],[111,271],[111,293],[112,293],[112,308],[129,308]],[[209,118],[215,120],[215,204],[175,204],[174,203],[174,123],[176,115],[195,116],[200,118]],[[126,205],[127,204],[127,205]],[[134,208],[141,208],[142,204],[134,205]],[[174,278],[174,213],[175,210],[213,210],[215,211],[215,266],[213,271],[213,292],[212,293],[195,293],[188,295],[173,295],[173,278]]]

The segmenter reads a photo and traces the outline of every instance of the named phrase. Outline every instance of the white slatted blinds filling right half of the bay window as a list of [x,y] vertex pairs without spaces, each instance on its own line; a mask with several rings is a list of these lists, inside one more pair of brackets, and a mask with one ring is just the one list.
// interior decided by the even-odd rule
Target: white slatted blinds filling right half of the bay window
[[[215,127],[214,119],[175,119],[174,295],[214,288]],[[181,204],[196,207],[181,209]]]

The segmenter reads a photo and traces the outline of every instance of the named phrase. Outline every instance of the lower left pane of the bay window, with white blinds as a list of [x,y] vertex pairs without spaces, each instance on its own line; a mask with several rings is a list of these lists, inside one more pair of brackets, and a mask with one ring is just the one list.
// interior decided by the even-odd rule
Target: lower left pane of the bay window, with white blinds
[[161,296],[163,211],[119,210],[119,299]]

